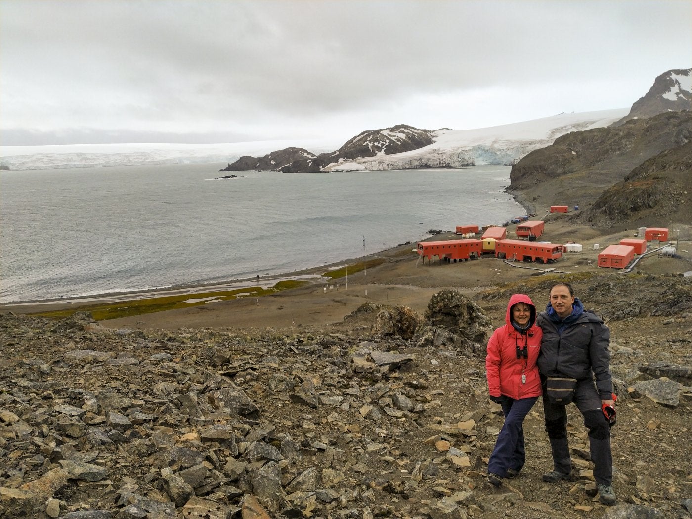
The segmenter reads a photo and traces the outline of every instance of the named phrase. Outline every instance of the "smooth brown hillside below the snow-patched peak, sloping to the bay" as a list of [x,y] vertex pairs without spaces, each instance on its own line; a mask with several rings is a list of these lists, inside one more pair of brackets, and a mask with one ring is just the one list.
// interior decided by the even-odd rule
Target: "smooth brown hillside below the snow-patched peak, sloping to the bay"
[[[545,206],[560,203],[590,208],[604,190],[623,181],[632,170],[690,140],[691,111],[632,119],[619,127],[574,131],[513,165],[508,190],[520,191],[528,201]],[[681,152],[676,161],[682,176],[685,156]],[[672,159],[666,157],[663,160]],[[690,169],[687,167],[687,176]],[[627,201],[621,203],[626,205]]]

